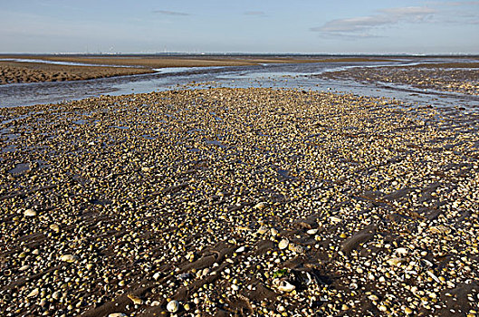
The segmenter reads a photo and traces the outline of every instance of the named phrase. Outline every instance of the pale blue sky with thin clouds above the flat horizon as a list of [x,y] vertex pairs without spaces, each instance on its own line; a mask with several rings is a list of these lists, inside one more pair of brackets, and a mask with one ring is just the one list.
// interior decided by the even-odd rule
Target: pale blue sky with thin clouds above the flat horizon
[[0,53],[479,53],[479,1],[0,0]]

